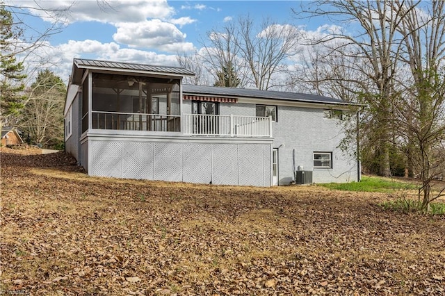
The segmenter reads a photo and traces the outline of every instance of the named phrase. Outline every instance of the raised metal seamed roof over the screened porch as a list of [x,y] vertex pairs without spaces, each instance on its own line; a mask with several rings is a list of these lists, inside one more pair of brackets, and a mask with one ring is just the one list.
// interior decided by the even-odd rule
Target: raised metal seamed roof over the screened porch
[[112,62],[107,60],[88,60],[84,58],[74,58],[74,64],[79,68],[99,67],[108,69],[129,69],[137,71],[159,72],[165,74],[181,74],[184,76],[195,75],[188,69],[184,69],[181,67],[164,67],[136,63]]

